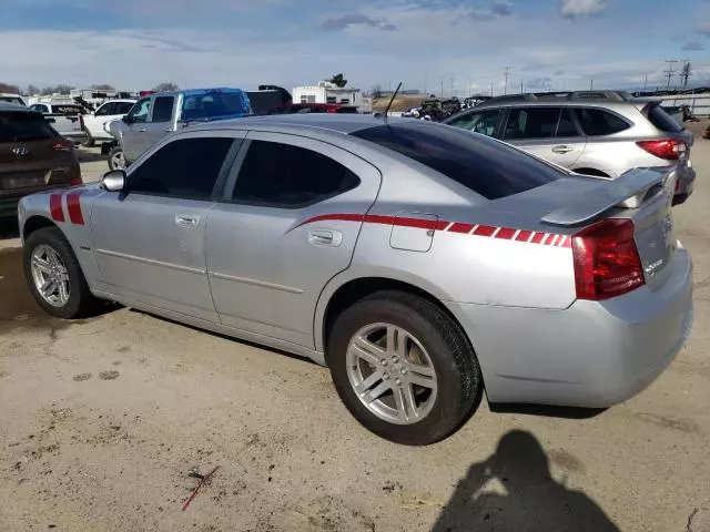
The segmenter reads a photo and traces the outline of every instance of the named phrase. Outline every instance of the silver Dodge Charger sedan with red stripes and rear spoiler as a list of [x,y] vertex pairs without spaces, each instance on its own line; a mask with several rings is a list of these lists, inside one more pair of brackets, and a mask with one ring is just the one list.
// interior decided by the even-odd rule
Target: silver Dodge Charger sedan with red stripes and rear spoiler
[[661,374],[692,325],[672,181],[420,121],[263,116],[185,127],[19,217],[48,313],[115,300],[311,358],[367,429],[427,444],[484,390],[608,407]]

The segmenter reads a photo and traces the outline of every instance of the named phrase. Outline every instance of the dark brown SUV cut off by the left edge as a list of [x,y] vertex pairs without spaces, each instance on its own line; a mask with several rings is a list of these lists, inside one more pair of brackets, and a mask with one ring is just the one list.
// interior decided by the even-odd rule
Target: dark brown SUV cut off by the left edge
[[27,194],[79,184],[73,144],[41,113],[0,102],[0,218],[17,216]]

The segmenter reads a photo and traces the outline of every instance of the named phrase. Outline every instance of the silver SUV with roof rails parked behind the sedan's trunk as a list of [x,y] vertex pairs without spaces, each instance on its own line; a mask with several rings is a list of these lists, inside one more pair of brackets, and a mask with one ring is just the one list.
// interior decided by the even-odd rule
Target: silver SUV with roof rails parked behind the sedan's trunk
[[692,133],[659,101],[610,91],[513,94],[444,123],[499,139],[580,174],[616,178],[631,168],[674,171],[673,205],[692,193]]

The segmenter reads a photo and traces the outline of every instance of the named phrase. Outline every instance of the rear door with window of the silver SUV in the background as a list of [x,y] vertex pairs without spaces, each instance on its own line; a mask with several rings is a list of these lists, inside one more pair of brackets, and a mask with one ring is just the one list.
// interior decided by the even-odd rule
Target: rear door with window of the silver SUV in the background
[[567,108],[511,108],[503,140],[566,168],[581,156],[587,140]]

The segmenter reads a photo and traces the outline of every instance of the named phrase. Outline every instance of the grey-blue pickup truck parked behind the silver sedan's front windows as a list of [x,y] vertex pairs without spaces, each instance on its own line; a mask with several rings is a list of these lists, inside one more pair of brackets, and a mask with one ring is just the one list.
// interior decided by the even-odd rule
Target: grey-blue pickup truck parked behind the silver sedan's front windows
[[125,168],[164,136],[190,123],[250,113],[248,96],[241,89],[192,89],[142,98],[122,120],[106,123],[118,141],[109,152],[109,168]]

